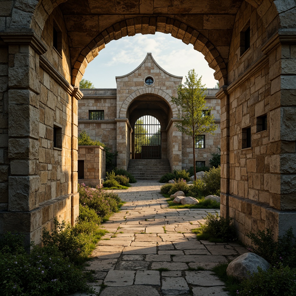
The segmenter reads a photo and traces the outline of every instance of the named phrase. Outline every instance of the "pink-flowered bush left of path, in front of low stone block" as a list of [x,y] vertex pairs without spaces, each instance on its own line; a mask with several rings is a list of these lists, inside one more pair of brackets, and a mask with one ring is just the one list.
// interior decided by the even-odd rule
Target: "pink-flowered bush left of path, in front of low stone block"
[[101,218],[110,216],[113,212],[118,211],[119,203],[121,202],[118,194],[106,192],[98,186],[94,189],[85,184],[78,184],[78,192],[79,202],[94,209]]

